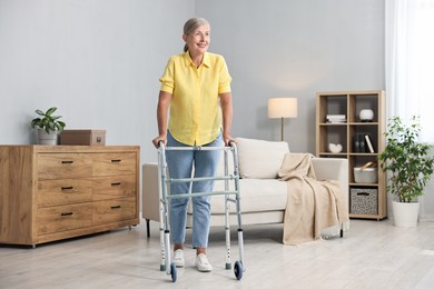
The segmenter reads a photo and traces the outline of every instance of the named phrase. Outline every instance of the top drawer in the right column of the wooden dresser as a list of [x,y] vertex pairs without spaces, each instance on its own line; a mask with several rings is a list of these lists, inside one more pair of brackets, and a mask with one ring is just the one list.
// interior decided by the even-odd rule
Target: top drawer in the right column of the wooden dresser
[[95,153],[93,176],[135,175],[137,170],[136,153]]

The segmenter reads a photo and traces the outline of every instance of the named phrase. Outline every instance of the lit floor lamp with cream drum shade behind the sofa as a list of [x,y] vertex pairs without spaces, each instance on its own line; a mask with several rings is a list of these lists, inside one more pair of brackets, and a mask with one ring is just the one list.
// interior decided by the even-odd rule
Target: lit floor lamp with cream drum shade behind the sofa
[[297,117],[296,98],[270,98],[268,99],[268,118],[280,119],[280,140],[284,141],[284,120]]

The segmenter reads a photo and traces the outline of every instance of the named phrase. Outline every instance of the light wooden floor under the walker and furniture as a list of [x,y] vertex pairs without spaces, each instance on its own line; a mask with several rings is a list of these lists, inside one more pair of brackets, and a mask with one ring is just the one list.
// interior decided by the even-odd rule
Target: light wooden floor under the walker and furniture
[[[352,220],[344,239],[299,247],[280,243],[280,225],[245,227],[247,270],[240,281],[224,269],[224,231],[213,228],[208,253],[214,271],[196,271],[189,249],[176,283],[159,271],[157,227],[151,222],[150,239],[144,221],[131,231],[36,249],[2,245],[0,288],[434,288],[434,222],[403,229],[389,220]],[[234,242],[233,262],[237,258]]]

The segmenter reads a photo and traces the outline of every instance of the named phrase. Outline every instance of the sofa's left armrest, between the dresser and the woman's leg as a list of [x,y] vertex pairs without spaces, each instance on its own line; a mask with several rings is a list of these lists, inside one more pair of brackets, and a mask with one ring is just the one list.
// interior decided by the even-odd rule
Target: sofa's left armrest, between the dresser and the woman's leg
[[155,162],[144,163],[141,167],[141,217],[144,219],[159,221],[159,179],[158,165]]

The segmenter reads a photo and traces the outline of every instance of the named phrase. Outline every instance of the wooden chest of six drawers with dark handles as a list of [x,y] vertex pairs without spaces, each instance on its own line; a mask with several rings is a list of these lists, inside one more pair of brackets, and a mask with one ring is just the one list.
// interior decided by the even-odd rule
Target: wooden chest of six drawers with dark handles
[[139,223],[138,146],[0,146],[0,242]]

